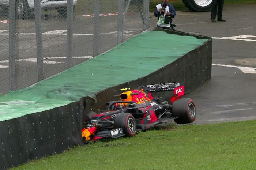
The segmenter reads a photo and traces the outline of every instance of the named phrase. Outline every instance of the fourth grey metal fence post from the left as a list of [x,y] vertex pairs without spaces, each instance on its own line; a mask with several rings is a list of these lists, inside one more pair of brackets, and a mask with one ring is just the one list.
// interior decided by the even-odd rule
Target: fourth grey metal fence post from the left
[[99,54],[99,0],[94,0],[93,56]]

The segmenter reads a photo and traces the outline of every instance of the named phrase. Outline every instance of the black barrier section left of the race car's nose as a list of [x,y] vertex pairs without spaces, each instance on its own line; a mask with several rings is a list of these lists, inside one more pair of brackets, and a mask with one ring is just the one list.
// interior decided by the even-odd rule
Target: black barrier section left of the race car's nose
[[[83,108],[81,108],[83,110]],[[0,121],[0,169],[82,144],[80,102]]]

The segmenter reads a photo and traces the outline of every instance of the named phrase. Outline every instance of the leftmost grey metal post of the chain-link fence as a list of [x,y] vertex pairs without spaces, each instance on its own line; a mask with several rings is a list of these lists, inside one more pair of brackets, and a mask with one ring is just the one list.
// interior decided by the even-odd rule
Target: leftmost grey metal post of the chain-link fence
[[15,78],[15,2],[9,1],[9,90],[16,90]]

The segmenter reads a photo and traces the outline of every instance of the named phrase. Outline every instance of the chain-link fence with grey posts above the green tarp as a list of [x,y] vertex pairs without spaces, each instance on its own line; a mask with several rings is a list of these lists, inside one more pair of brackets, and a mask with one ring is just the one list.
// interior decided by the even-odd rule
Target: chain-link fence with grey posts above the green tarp
[[28,87],[150,29],[148,9],[149,0],[0,0],[0,93]]

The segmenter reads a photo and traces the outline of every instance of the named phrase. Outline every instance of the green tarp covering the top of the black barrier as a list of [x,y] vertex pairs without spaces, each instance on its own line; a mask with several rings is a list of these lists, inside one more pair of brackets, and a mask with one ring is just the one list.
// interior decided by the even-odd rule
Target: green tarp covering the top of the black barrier
[[208,39],[151,31],[34,86],[0,96],[0,121],[93,97],[97,92],[157,71]]

